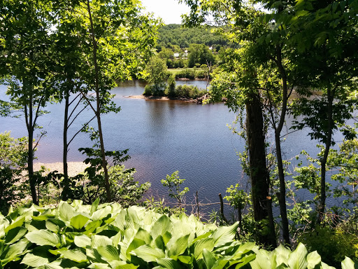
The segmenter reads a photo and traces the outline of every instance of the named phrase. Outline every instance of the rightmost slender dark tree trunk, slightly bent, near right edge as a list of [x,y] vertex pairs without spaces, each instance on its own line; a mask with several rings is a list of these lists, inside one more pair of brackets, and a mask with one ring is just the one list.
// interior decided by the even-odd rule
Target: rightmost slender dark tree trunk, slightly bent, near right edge
[[334,102],[334,92],[331,89],[327,90],[327,140],[325,141],[324,155],[321,160],[321,186],[320,186],[320,207],[318,209],[318,219],[317,223],[320,224],[324,218],[324,209],[326,207],[326,165],[327,158],[329,154],[329,149],[331,149],[332,141],[332,128],[333,128],[333,102]]

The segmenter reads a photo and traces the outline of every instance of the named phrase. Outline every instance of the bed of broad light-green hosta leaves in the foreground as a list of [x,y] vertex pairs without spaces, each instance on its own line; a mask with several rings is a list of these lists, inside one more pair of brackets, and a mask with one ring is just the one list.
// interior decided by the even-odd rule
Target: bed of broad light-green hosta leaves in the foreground
[[[234,240],[238,223],[217,228],[194,215],[166,216],[117,203],[18,207],[0,215],[2,268],[289,268],[330,267],[303,244],[274,251]],[[357,266],[345,258],[342,268]],[[333,269],[333,268],[331,268]]]

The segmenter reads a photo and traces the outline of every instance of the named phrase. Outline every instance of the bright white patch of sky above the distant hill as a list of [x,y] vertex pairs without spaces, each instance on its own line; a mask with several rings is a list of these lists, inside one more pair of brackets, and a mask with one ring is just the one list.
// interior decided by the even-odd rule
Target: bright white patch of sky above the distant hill
[[180,15],[189,13],[189,7],[179,4],[178,0],[141,0],[145,10],[163,19],[166,25],[181,24]]

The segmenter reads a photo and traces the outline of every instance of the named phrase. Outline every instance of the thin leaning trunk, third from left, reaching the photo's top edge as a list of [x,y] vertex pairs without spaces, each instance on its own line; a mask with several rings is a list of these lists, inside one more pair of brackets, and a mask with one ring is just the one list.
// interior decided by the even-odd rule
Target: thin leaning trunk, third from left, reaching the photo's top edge
[[106,186],[106,193],[107,193],[107,202],[111,201],[110,198],[110,184],[109,184],[109,177],[108,177],[108,169],[107,169],[107,161],[106,155],[104,150],[104,142],[103,142],[103,132],[102,132],[102,125],[101,125],[101,97],[99,95],[99,68],[97,64],[97,43],[94,37],[94,27],[93,27],[93,20],[92,20],[92,13],[90,7],[90,0],[87,0],[87,11],[90,18],[90,25],[91,25],[91,34],[92,34],[92,43],[93,43],[93,62],[94,62],[94,80],[95,80],[95,90],[96,90],[96,118],[98,124],[98,132],[99,132],[99,143],[101,146],[101,157],[102,157],[102,168],[104,172],[104,181]]

